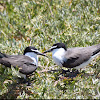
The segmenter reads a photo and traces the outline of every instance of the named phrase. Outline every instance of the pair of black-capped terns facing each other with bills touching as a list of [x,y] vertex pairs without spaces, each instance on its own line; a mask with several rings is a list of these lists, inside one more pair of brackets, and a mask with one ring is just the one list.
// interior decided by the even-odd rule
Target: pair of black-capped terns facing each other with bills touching
[[37,55],[46,56],[44,53],[47,52],[52,52],[52,58],[58,66],[79,69],[88,65],[92,58],[100,54],[100,44],[89,47],[66,48],[64,43],[56,43],[43,53],[40,53],[34,46],[29,46],[24,50],[24,55],[0,53],[0,64],[6,67],[18,66],[19,72],[26,78],[38,67]]

